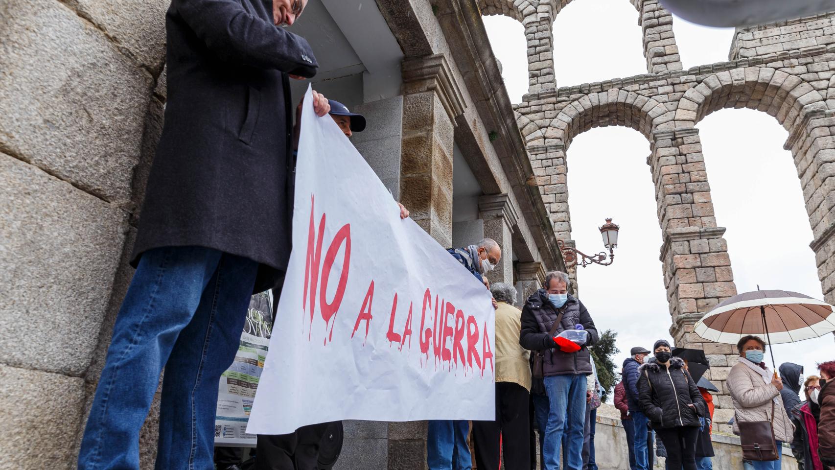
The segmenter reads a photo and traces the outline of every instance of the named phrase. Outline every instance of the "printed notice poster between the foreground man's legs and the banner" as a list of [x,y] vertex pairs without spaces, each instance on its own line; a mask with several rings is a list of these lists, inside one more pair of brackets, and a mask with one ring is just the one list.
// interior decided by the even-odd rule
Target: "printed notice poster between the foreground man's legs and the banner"
[[272,331],[272,292],[252,296],[235,361],[220,376],[215,412],[215,445],[255,447],[246,432]]

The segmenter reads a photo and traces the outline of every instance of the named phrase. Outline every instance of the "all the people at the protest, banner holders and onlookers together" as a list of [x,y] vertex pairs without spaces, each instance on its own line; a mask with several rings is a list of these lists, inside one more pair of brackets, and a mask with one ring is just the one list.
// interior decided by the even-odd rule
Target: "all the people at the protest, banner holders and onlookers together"
[[[239,467],[240,456],[220,463],[213,452],[218,382],[234,360],[251,294],[273,289],[281,295],[299,137],[299,108],[294,126],[288,83],[311,78],[318,67],[304,38],[276,28],[295,23],[306,0],[273,0],[271,8],[244,3],[173,0],[166,15],[165,124],[134,245],[136,272],[114,325],[79,469],[139,468],[139,432],[163,368],[157,468]],[[313,93],[313,110],[330,114],[349,137],[366,125],[320,93]],[[408,216],[402,205],[400,211]],[[429,422],[428,467],[468,470],[474,460],[484,470],[498,470],[500,462],[530,470],[539,460],[545,470],[596,470],[595,414],[608,391],[590,354],[598,331],[569,294],[569,276],[549,272],[519,310],[514,286],[487,280],[502,257],[494,240],[449,252],[493,294],[496,418],[472,427]],[[777,460],[755,460],[753,467],[779,467],[782,442],[792,443],[804,469],[832,467],[835,387],[828,381],[835,361],[806,380],[783,371],[793,374],[787,385],[795,395],[802,383],[801,402],[762,362],[765,346],[757,337],[743,338],[727,381],[743,442],[751,423],[773,424],[777,447],[766,450],[777,452]],[[668,342],[630,353],[615,388],[630,467],[652,466],[655,432],[667,468],[711,468],[711,394],[694,383]],[[259,436],[255,467],[316,468],[326,429],[328,423]]]

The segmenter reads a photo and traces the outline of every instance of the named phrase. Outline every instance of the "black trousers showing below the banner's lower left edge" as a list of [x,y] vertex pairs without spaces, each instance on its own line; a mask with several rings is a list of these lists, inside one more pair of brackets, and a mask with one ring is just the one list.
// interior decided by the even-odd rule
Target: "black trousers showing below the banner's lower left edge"
[[316,470],[319,442],[327,425],[304,426],[291,434],[259,434],[256,470]]

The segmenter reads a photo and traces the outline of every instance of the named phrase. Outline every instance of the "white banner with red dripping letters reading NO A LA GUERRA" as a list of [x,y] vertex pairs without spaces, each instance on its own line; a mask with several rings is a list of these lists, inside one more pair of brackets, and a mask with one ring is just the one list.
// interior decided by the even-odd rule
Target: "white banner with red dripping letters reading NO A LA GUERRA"
[[293,252],[247,431],[343,419],[492,420],[493,306],[308,88]]

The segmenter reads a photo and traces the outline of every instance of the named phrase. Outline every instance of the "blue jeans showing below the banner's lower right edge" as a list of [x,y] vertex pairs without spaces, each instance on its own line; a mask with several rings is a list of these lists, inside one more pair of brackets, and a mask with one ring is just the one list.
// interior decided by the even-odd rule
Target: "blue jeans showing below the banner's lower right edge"
[[426,442],[429,470],[471,470],[473,457],[469,453],[468,435],[468,421],[430,421]]

